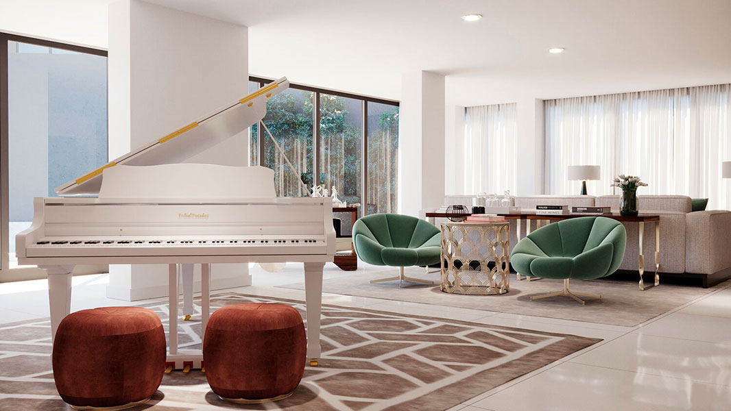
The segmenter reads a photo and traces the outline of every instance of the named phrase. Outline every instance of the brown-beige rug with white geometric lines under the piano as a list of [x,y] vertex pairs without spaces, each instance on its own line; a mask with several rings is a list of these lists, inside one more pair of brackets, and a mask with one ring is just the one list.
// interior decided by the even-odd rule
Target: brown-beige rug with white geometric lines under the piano
[[[212,305],[242,302],[291,304],[305,315],[303,301],[236,293],[219,294]],[[167,304],[145,307],[167,324]],[[0,326],[0,410],[70,410],[53,383],[49,334],[48,320]],[[200,348],[200,315],[183,323],[178,338]],[[325,305],[321,341],[319,366],[306,368],[288,399],[230,404],[204,373],[173,372],[151,402],[132,410],[447,410],[601,340]]]

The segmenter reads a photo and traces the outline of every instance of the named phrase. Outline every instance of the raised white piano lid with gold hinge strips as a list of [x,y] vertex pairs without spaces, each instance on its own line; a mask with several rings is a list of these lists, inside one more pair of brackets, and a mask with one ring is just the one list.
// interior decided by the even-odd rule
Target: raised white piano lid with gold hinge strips
[[98,195],[105,169],[180,163],[257,123],[267,113],[266,101],[289,87],[287,77],[270,82],[249,96],[194,121],[173,133],[115,158],[104,166],[56,188],[59,196]]

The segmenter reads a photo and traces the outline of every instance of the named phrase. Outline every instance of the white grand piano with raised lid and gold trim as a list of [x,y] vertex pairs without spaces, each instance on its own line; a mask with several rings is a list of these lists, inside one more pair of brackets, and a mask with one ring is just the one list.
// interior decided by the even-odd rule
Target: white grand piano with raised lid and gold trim
[[[322,268],[335,255],[330,198],[276,197],[273,170],[179,164],[264,118],[276,80],[165,137],[36,198],[30,228],[16,237],[18,264],[48,273],[52,337],[69,314],[77,264],[168,264],[168,364],[200,368],[200,350],[178,350],[178,272],[201,264],[202,332],[210,314],[211,264],[302,262],[307,356],[317,365]],[[73,198],[67,196],[98,196]],[[186,297],[192,299],[192,276]]]

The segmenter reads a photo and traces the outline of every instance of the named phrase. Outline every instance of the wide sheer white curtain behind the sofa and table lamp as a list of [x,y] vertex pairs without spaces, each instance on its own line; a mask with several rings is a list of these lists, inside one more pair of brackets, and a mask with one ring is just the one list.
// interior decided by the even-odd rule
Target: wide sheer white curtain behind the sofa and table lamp
[[612,193],[617,174],[639,175],[640,194],[709,198],[708,207],[731,207],[731,85],[643,91],[545,101],[548,193],[573,194],[580,182],[567,167],[597,164],[602,179],[590,194]]

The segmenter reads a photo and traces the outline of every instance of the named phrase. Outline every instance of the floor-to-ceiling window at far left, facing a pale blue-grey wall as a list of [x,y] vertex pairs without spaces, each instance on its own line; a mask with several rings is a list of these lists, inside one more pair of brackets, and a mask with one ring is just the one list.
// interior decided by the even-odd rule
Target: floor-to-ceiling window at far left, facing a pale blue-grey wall
[[0,34],[2,271],[15,266],[33,198],[107,162],[106,55]]

